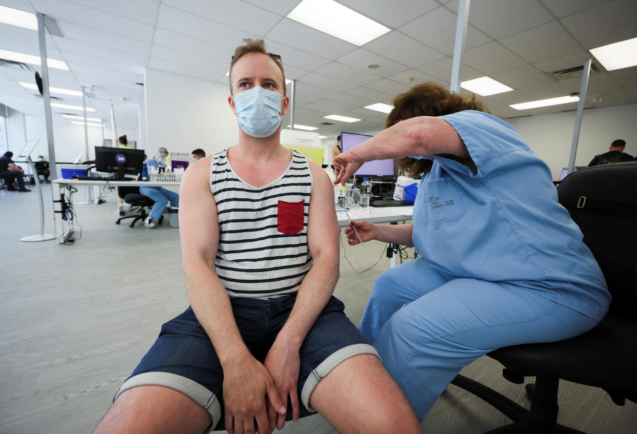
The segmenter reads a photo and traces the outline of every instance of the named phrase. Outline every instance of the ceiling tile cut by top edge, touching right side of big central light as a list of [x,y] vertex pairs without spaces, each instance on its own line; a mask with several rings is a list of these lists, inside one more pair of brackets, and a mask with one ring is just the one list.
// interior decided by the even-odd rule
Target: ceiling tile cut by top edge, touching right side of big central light
[[394,28],[438,6],[434,0],[340,0],[339,3]]

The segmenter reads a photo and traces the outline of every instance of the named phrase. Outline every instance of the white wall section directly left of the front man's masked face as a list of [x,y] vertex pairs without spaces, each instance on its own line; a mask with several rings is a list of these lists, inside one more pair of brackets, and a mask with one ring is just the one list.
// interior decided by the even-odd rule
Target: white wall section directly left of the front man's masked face
[[161,146],[188,153],[201,148],[209,155],[237,143],[227,85],[146,68],[144,93],[149,157]]

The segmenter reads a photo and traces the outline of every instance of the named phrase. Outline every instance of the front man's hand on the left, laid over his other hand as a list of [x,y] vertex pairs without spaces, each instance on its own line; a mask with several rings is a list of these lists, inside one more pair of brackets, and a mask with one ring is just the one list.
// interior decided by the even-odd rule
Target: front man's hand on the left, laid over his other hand
[[229,434],[254,434],[254,419],[257,419],[259,434],[271,433],[274,425],[269,423],[267,406],[285,419],[285,406],[275,382],[252,356],[224,368],[224,405],[225,429]]

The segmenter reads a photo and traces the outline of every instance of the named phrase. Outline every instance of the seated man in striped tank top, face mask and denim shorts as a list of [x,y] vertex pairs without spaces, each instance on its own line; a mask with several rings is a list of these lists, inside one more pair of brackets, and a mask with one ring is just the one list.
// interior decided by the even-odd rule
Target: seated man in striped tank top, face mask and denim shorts
[[280,145],[280,57],[245,39],[230,83],[239,142],[192,164],[180,189],[192,308],[162,326],[96,432],[201,433],[224,420],[231,434],[264,434],[317,410],[341,433],[420,433],[331,297],[333,188],[319,165]]

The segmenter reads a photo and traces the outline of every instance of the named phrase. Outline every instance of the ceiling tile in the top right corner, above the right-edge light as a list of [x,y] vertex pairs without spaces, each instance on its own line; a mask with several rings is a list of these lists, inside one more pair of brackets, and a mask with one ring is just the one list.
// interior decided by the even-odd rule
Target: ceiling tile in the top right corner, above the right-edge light
[[562,18],[569,32],[587,49],[637,36],[634,0],[615,0]]

